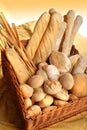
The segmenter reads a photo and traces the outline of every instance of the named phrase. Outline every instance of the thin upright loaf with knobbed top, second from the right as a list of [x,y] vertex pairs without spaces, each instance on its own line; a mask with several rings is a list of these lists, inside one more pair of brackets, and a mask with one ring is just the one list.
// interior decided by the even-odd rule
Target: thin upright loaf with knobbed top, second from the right
[[64,34],[64,41],[62,43],[62,52],[68,55],[69,41],[74,25],[75,12],[73,10],[68,11],[67,15],[64,17],[64,21],[67,23],[67,28]]

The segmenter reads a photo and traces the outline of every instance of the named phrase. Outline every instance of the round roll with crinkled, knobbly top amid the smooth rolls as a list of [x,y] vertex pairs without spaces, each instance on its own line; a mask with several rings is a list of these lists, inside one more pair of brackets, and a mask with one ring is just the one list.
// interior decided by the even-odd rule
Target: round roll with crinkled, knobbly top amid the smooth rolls
[[62,85],[60,84],[59,81],[56,80],[47,80],[44,83],[44,91],[50,95],[54,95],[58,93],[61,90],[61,88]]

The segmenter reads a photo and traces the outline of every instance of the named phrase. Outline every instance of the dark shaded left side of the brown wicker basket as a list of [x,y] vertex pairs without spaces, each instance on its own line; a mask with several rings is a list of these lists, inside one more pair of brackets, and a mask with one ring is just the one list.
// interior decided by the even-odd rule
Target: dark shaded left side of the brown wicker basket
[[2,52],[2,69],[3,74],[8,82],[8,89],[14,95],[14,100],[17,103],[21,116],[25,117],[26,109],[24,108],[24,99],[19,88],[19,82],[16,74],[6,58],[5,52]]

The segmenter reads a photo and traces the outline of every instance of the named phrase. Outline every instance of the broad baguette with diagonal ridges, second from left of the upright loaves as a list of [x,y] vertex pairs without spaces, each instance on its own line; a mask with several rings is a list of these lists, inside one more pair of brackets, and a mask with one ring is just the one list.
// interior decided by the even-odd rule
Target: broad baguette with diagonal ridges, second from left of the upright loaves
[[59,13],[55,12],[51,14],[49,25],[33,59],[35,64],[46,61],[54,49],[61,19],[62,16]]

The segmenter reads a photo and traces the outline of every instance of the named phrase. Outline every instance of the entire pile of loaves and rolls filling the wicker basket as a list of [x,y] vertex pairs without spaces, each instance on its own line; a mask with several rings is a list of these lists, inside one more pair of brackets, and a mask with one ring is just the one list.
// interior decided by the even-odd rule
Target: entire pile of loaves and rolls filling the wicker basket
[[50,9],[36,22],[25,49],[19,46],[19,51],[16,45],[5,48],[20,83],[26,118],[87,96],[87,59],[70,53],[82,21],[73,10],[62,16]]

